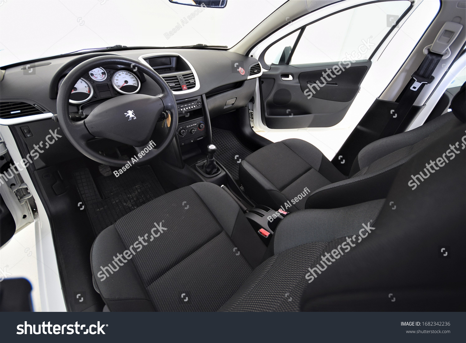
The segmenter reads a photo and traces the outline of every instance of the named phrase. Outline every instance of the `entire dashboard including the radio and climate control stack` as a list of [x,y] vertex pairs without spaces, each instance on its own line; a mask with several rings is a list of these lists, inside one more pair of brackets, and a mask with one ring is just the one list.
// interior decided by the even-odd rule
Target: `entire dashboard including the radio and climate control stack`
[[[50,119],[57,114],[58,90],[68,73],[89,58],[111,55],[138,60],[164,78],[178,104],[180,146],[204,139],[211,118],[247,106],[262,75],[257,59],[216,49],[129,49],[44,58],[0,70],[0,125],[14,128],[16,137],[32,149],[49,130],[60,128],[59,122]],[[87,70],[72,89],[70,117],[85,119],[110,98],[161,92],[137,67],[101,65]],[[76,153],[65,138],[34,163],[41,168],[76,157]]]

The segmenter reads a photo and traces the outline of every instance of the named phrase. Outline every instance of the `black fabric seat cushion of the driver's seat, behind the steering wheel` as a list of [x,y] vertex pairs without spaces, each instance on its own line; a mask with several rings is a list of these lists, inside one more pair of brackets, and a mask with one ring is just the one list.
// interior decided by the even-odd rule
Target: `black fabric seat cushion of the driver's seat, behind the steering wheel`
[[111,311],[215,311],[265,250],[233,198],[203,182],[152,200],[105,229],[91,264]]

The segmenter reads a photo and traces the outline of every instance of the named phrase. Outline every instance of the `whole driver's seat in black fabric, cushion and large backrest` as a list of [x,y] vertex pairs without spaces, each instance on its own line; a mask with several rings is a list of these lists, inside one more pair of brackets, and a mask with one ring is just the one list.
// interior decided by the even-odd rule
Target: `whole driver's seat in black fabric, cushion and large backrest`
[[95,287],[111,311],[464,311],[465,170],[461,124],[406,161],[386,198],[296,211],[268,248],[225,191],[193,184],[100,233]]

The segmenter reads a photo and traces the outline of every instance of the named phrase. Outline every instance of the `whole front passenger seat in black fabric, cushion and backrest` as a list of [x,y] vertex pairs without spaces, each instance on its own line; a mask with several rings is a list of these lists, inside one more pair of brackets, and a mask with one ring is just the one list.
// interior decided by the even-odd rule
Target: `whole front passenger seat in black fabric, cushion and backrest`
[[[464,96],[464,87],[457,99]],[[343,206],[348,197],[353,203],[379,199],[386,196],[403,163],[460,124],[450,112],[414,130],[377,140],[358,154],[348,179],[310,143],[283,140],[241,161],[240,182],[256,203],[290,212]]]

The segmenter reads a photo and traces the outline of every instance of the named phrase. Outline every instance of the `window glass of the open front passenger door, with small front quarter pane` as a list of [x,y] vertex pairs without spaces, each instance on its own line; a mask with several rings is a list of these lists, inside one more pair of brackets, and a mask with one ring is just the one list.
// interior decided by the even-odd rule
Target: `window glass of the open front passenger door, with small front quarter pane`
[[[290,64],[369,59],[377,45],[409,7],[410,1],[407,0],[378,2],[351,8],[316,21],[304,29]],[[267,64],[278,64],[275,63],[276,56],[281,55],[283,49],[289,46],[293,35],[285,37],[268,49],[264,56]]]

